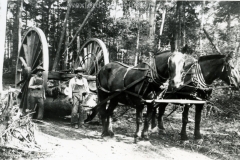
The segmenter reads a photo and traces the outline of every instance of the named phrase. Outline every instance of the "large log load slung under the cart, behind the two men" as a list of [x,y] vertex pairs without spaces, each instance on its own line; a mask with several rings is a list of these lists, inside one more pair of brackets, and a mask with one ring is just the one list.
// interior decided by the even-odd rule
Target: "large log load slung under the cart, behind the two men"
[[[48,90],[46,91],[46,100],[44,100],[44,108],[46,116],[66,116],[71,114],[72,105],[69,102],[68,95],[66,95],[66,88],[68,87],[69,78],[74,74],[64,74],[68,77],[67,81],[49,80]],[[83,106],[86,110],[97,105],[96,94],[96,77],[83,75],[88,80],[91,93],[84,98]]]

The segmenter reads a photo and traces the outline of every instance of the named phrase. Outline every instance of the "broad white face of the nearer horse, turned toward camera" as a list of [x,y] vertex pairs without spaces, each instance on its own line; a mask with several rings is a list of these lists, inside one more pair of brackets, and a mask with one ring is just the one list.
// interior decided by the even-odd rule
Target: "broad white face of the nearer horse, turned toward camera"
[[185,65],[185,55],[181,52],[173,52],[168,59],[169,87],[174,89],[183,85],[183,68]]

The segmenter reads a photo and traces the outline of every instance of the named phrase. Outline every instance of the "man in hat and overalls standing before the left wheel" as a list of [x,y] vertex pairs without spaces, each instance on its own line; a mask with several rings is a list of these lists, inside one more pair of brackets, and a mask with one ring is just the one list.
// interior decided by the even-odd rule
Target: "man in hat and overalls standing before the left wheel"
[[46,99],[45,90],[43,87],[43,77],[42,72],[44,69],[41,66],[38,66],[33,74],[35,75],[31,77],[29,81],[29,97],[28,97],[28,105],[26,112],[33,112],[35,109],[35,105],[38,107],[38,116],[37,119],[43,119],[44,113],[44,103],[43,99]]

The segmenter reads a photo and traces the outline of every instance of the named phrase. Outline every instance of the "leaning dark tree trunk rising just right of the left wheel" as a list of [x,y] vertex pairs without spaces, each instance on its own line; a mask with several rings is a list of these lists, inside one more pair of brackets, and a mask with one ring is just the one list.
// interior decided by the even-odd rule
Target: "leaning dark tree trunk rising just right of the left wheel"
[[65,19],[64,19],[64,22],[63,22],[63,29],[62,29],[60,41],[59,41],[59,44],[58,44],[56,57],[55,57],[55,60],[54,60],[54,63],[53,63],[52,71],[56,71],[56,70],[58,69],[58,62],[59,62],[60,55],[61,55],[61,54],[60,54],[61,46],[62,46],[63,38],[64,38],[64,35],[65,35],[65,31],[66,31],[67,20],[68,20],[68,17],[69,17],[71,5],[72,5],[72,0],[68,0],[68,3],[67,3],[67,12],[66,12]]

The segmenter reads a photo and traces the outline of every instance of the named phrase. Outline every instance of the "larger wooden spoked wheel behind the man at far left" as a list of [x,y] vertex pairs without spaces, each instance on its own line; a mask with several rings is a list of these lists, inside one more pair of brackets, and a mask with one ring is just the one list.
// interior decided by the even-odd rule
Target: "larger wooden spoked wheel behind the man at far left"
[[43,86],[47,89],[48,80],[48,43],[40,28],[29,28],[25,33],[17,57],[15,85],[22,89],[21,106],[27,105],[28,84],[37,66],[44,68]]

